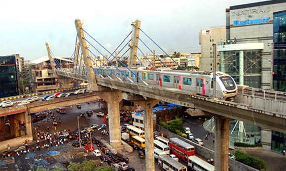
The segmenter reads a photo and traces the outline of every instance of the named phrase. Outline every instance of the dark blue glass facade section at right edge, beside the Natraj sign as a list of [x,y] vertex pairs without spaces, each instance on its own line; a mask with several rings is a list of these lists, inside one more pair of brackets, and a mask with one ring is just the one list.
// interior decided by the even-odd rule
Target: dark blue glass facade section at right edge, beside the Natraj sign
[[273,88],[286,91],[286,11],[273,14]]

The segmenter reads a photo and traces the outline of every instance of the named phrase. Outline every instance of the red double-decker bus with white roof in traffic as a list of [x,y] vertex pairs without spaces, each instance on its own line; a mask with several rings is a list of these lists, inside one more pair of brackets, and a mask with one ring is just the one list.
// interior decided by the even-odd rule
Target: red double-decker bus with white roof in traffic
[[172,154],[185,162],[188,161],[189,156],[195,155],[195,147],[178,138],[170,138],[169,146]]

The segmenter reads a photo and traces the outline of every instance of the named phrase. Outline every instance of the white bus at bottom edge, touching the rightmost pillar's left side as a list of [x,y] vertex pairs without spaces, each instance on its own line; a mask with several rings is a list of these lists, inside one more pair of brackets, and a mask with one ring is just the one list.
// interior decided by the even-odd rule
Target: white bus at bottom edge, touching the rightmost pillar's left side
[[192,171],[214,171],[214,166],[197,156],[190,156],[188,166]]

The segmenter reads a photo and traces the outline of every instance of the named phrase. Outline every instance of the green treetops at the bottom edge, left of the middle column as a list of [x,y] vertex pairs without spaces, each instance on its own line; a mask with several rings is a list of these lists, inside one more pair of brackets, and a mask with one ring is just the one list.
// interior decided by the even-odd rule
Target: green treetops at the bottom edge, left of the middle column
[[113,167],[99,167],[98,160],[86,160],[82,163],[71,163],[68,166],[68,171],[114,171]]

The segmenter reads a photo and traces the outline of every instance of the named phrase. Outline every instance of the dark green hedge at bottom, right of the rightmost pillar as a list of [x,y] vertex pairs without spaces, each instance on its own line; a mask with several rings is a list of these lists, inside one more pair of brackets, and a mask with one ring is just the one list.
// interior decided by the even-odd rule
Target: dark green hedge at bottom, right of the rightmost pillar
[[235,155],[235,160],[241,163],[244,163],[258,170],[262,170],[262,169],[266,170],[266,162],[262,159],[259,159],[257,157],[252,157],[249,154],[241,150],[235,150],[234,155]]

